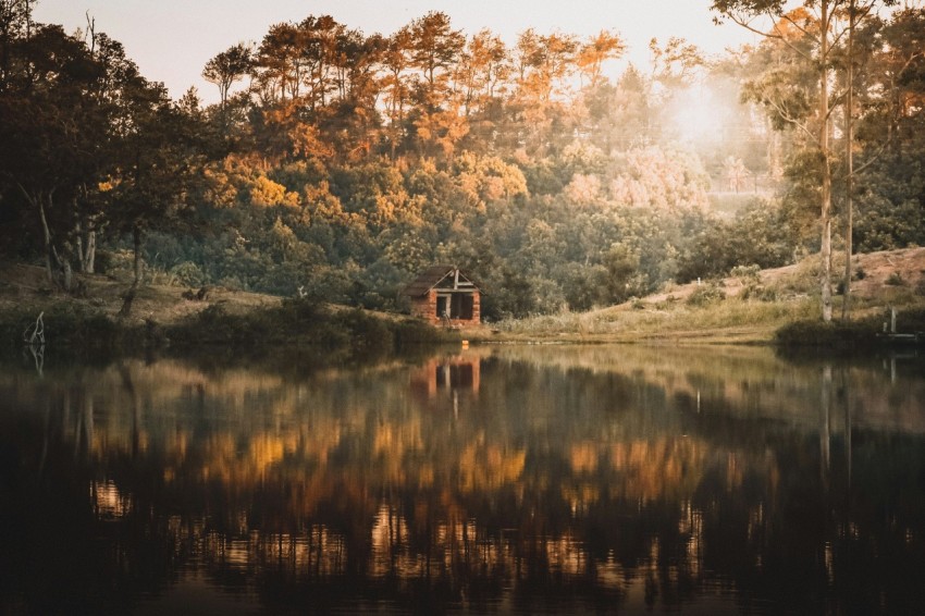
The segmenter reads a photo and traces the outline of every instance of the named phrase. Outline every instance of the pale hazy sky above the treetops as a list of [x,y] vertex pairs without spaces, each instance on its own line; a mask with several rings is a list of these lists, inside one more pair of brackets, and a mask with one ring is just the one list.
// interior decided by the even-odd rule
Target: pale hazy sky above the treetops
[[488,27],[508,44],[532,27],[585,37],[615,30],[629,45],[628,60],[649,62],[649,41],[680,36],[707,53],[753,41],[742,28],[713,24],[711,0],[39,0],[34,17],[62,24],[69,33],[85,28],[89,15],[97,32],[125,46],[148,79],[163,82],[173,98],[189,86],[207,102],[215,86],[202,81],[210,58],[239,41],[260,42],[269,26],[332,15],[349,28],[390,35],[429,11],[449,15],[455,28],[472,35]]

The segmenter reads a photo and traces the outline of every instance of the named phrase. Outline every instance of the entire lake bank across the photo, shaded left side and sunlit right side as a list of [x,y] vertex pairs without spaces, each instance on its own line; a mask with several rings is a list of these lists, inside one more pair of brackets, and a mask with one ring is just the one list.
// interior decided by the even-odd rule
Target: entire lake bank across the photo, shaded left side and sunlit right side
[[[835,263],[841,271],[843,263]],[[735,276],[675,285],[662,293],[588,312],[504,320],[439,330],[400,315],[370,312],[222,287],[188,289],[79,276],[81,293],[65,295],[41,268],[0,266],[0,335],[7,348],[40,313],[46,340],[85,349],[107,347],[286,345],[366,353],[416,342],[819,344],[848,346],[883,331],[890,307],[898,331],[925,331],[925,248],[858,255],[852,259],[850,323],[819,318],[818,258]],[[835,298],[840,320],[843,295]]]

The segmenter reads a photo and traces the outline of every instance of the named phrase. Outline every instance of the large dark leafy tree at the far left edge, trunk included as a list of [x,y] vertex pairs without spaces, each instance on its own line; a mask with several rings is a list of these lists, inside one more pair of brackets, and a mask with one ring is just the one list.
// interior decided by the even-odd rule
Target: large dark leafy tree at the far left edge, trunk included
[[77,233],[99,205],[87,197],[119,125],[111,79],[131,65],[118,44],[102,38],[95,54],[59,26],[14,36],[0,90],[0,195],[24,206],[17,219],[40,229],[49,280],[70,291]]

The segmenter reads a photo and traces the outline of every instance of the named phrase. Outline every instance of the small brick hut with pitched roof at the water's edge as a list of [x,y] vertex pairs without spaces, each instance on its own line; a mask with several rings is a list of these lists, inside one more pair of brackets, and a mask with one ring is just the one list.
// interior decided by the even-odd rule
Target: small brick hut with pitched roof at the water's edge
[[402,293],[411,299],[411,315],[434,325],[471,325],[481,320],[481,291],[456,266],[433,266]]

